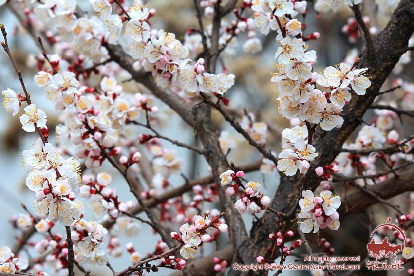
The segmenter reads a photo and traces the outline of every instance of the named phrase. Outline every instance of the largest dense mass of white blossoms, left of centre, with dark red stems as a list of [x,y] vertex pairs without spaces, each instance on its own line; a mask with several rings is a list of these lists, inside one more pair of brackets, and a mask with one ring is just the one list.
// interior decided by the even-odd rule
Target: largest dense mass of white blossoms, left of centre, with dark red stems
[[[138,119],[141,112],[156,112],[148,106],[148,98],[140,93],[134,96],[121,93],[113,77],[103,77],[100,88],[80,86],[73,72],[52,74],[40,71],[35,76],[40,87],[45,87],[57,110],[63,110],[64,125],[56,127],[57,140],[79,158],[85,159],[88,168],[101,166],[105,157],[102,150],[109,149],[110,156],[121,155],[115,143],[121,138],[116,130],[127,122]],[[122,131],[120,131],[122,132]],[[141,154],[121,155],[119,162],[125,166],[139,162]]]

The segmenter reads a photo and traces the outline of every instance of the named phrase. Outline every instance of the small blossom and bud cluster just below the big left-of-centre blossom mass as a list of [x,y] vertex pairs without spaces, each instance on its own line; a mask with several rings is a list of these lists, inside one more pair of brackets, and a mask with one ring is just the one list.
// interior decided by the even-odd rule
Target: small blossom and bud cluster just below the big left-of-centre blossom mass
[[108,220],[114,221],[120,214],[131,210],[134,202],[119,202],[115,189],[108,188],[112,177],[106,172],[101,172],[94,177],[84,175],[83,186],[80,187],[79,196],[89,198],[88,207],[94,212],[97,218],[109,215]]

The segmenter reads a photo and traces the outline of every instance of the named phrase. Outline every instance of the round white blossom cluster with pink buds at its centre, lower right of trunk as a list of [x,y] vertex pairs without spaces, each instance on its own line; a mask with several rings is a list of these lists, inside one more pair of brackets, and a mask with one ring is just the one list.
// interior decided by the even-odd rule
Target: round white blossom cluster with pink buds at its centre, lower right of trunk
[[322,191],[314,196],[313,192],[302,192],[303,198],[299,200],[301,212],[298,214],[300,229],[303,233],[318,232],[326,227],[337,230],[340,226],[339,208],[341,201],[339,196],[333,196],[331,191]]

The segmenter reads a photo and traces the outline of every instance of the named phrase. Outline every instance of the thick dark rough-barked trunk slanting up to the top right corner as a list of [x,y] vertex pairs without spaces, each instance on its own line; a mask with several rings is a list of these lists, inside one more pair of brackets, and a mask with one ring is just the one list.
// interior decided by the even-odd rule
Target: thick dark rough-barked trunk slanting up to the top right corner
[[[305,177],[301,174],[294,177],[282,175],[272,201],[273,209],[289,212],[295,206],[298,196],[300,196],[302,181],[304,181],[305,189],[314,190],[318,186],[320,179],[312,172],[312,168],[330,164],[339,154],[342,144],[360,124],[362,116],[374,101],[376,93],[379,92],[399,57],[404,53],[403,49],[407,47],[413,31],[414,1],[401,0],[387,26],[374,39],[375,53],[368,55],[367,49],[365,49],[361,55],[361,62],[358,67],[368,68],[368,74],[372,77],[372,86],[365,95],[353,94],[350,104],[342,112],[344,123],[340,129],[324,131],[320,127],[317,128],[312,144],[319,152],[318,159],[311,163],[312,167]],[[372,51],[372,49],[370,50]],[[369,56],[372,56],[372,58]],[[266,247],[269,246],[268,231],[260,225],[268,225],[270,229],[276,230],[278,220],[273,213],[268,212],[261,218],[261,222],[253,226],[250,233],[250,242],[243,244],[238,249],[235,248],[239,256],[239,262],[254,263],[254,258],[263,255]],[[240,275],[240,272],[232,272],[231,275]]]

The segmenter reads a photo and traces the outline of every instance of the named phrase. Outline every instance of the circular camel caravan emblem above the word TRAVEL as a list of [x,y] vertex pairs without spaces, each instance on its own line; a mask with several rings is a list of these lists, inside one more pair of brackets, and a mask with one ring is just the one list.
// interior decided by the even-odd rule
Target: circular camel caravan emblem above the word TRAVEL
[[[390,222],[391,218],[388,217],[386,222]],[[374,233],[376,232],[376,230],[378,230],[381,227],[392,227],[395,230],[397,230],[401,236],[403,237],[404,240],[404,247],[402,246],[401,243],[399,244],[390,244],[388,242],[388,237],[385,237],[381,243],[376,243],[374,239],[371,240],[370,243],[368,243],[367,245],[367,250],[368,250],[368,254],[369,256],[376,258],[377,260],[384,258],[384,256],[386,258],[392,257],[394,256],[395,258],[397,257],[397,253],[401,252],[403,248],[406,247],[406,238],[405,238],[405,233],[404,231],[399,228],[397,225],[394,225],[392,223],[384,223],[381,225],[378,225],[374,231],[372,231],[371,233],[371,237],[374,235]]]

